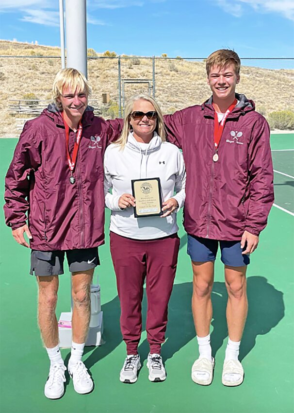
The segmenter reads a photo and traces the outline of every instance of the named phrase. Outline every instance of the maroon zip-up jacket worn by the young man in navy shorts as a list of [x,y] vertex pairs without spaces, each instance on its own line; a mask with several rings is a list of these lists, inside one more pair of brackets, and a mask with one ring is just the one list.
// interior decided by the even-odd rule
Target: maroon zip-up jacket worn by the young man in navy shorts
[[212,97],[166,115],[167,139],[183,151],[186,165],[184,227],[213,240],[259,235],[274,202],[273,165],[267,121],[245,95],[229,114],[213,162]]

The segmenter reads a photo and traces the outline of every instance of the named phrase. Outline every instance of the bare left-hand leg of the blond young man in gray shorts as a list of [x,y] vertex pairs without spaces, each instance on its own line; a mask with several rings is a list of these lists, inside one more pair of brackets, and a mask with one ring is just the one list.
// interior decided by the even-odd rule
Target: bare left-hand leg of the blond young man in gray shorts
[[55,315],[58,275],[37,277],[38,296],[38,322],[41,337],[47,348],[53,348],[58,344],[58,324]]

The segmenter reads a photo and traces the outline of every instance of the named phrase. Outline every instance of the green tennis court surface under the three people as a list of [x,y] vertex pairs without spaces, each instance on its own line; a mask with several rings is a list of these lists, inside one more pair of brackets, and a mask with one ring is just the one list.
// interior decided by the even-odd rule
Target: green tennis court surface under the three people
[[[10,163],[16,139],[0,139],[0,179]],[[237,388],[221,384],[227,344],[226,289],[223,266],[216,263],[213,288],[212,347],[216,364],[211,386],[198,386],[190,377],[197,358],[191,313],[192,272],[186,255],[186,236],[179,214],[181,246],[178,271],[169,305],[169,324],[163,345],[167,379],[148,380],[146,332],[139,352],[144,365],[138,381],[119,381],[125,344],[119,330],[119,302],[109,240],[99,249],[98,269],[104,315],[104,339],[100,347],[87,347],[83,357],[95,389],[78,395],[67,382],[60,400],[43,395],[49,361],[42,348],[36,322],[37,287],[28,275],[29,250],[16,244],[0,211],[0,412],[19,413],[293,413],[294,382],[294,135],[273,135],[272,149],[276,199],[258,250],[248,267],[249,312],[241,344],[244,383]],[[292,151],[285,151],[291,149]],[[283,150],[283,151],[281,151]],[[286,176],[286,175],[290,176]],[[1,199],[3,200],[3,184]],[[280,209],[283,208],[283,209]],[[109,224],[107,213],[106,227]],[[106,234],[108,231],[106,231]],[[69,276],[60,277],[57,315],[70,309]],[[144,299],[144,312],[146,300]],[[144,319],[145,321],[145,319]],[[69,350],[62,350],[68,359]]]

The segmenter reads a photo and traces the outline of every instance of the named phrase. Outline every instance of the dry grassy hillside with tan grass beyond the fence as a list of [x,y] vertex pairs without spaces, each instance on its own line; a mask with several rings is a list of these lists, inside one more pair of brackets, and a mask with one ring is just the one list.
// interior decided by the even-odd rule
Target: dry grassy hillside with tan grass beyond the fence
[[[23,99],[28,93],[33,93],[38,99],[50,99],[54,75],[61,65],[57,58],[60,49],[0,40],[0,55],[0,136],[17,136],[15,116],[8,112],[9,99]],[[30,58],[8,57],[13,55]],[[152,60],[122,58],[121,78],[152,79]],[[108,107],[103,108],[101,103],[103,114],[117,114],[117,59],[89,59],[88,79],[93,86],[93,98],[102,102],[101,94],[110,94],[113,110],[107,112]],[[210,95],[204,62],[156,59],[155,80],[155,97],[164,113],[202,103]],[[125,99],[138,92],[147,92],[147,85],[125,85]],[[294,70],[243,66],[237,92],[254,100],[257,110],[265,116],[275,110],[294,110]]]

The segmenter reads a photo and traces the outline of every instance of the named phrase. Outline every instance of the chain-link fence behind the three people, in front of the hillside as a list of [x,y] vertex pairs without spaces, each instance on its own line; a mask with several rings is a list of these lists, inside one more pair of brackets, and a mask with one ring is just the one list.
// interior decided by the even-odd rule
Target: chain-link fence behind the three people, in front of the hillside
[[[246,64],[262,62],[242,60],[237,92],[255,101],[265,116],[275,110],[294,110],[293,69]],[[56,56],[0,56],[0,138],[17,137],[24,121],[51,101],[52,83],[60,68],[61,59]],[[93,88],[89,103],[105,118],[122,116],[126,101],[138,93],[154,96],[163,113],[202,103],[211,94],[205,62],[197,58],[89,57],[88,80]]]

